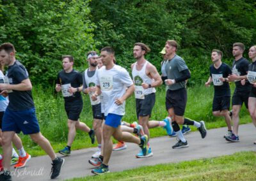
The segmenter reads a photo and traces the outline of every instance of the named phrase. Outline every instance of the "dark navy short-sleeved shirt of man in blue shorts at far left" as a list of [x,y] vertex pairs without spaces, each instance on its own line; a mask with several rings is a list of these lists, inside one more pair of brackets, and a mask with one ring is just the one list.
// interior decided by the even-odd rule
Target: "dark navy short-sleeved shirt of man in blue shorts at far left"
[[[10,84],[19,84],[29,78],[28,71],[19,61],[15,61],[12,66],[8,66],[6,75],[8,76]],[[13,90],[9,92],[8,95],[10,102],[7,108],[12,111],[28,110],[35,106],[31,91]]]

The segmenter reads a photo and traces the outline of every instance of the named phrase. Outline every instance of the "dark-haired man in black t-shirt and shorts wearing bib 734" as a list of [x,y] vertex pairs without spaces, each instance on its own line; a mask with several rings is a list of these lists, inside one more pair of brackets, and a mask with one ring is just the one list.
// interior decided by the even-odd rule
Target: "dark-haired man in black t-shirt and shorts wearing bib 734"
[[227,77],[232,71],[227,64],[221,62],[222,55],[220,50],[212,50],[211,59],[213,64],[210,66],[210,77],[205,83],[205,86],[209,87],[211,82],[213,82],[214,98],[212,101],[212,114],[214,116],[225,117],[228,126],[228,132],[225,136],[231,136],[231,117],[228,113],[230,107],[230,87]]

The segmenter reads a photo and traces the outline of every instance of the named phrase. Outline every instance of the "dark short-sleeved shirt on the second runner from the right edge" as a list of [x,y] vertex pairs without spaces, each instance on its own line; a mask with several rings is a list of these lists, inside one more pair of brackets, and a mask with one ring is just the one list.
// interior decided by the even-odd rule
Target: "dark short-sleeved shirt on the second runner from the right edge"
[[[233,61],[232,64],[232,73],[236,74],[236,75],[246,75],[247,71],[248,71],[248,66],[249,66],[250,62],[245,59],[244,57],[241,57],[241,59],[237,60],[237,61]],[[235,91],[239,91],[239,92],[248,92],[251,90],[250,87],[250,83],[246,81],[245,85],[241,84],[240,80],[235,80],[236,83],[236,89]]]

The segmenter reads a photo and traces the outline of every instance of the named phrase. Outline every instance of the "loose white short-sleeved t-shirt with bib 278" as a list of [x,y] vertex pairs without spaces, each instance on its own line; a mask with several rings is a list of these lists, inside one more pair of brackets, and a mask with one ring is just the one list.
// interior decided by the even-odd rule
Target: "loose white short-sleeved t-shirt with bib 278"
[[105,66],[99,69],[96,85],[100,86],[104,102],[104,115],[113,113],[116,115],[125,114],[125,101],[122,105],[116,105],[115,99],[124,96],[126,88],[133,85],[131,76],[126,69],[115,65],[111,69]]

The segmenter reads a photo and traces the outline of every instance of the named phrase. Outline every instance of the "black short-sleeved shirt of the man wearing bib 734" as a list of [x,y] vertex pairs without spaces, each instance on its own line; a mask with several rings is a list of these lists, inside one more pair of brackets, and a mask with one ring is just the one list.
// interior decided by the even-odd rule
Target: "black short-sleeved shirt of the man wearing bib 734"
[[220,78],[227,78],[231,73],[230,67],[225,63],[222,63],[218,69],[216,69],[213,64],[210,66],[210,76],[214,85],[215,97],[230,96],[229,83],[221,82]]

